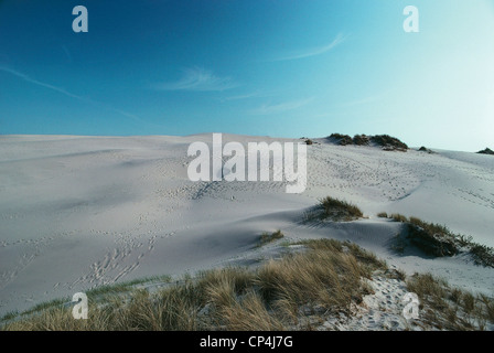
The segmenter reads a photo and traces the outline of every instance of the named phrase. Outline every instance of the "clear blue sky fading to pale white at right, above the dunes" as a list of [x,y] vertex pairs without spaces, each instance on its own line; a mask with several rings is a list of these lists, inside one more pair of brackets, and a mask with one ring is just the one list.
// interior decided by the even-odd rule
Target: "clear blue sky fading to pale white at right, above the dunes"
[[477,151],[494,147],[493,63],[492,0],[3,0],[0,133],[389,133]]

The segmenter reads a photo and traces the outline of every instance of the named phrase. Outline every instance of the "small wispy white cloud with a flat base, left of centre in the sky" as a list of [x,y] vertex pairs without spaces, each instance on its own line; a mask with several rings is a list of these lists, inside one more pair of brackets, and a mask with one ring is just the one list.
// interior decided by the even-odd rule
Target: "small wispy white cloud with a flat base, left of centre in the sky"
[[232,77],[218,77],[212,71],[201,67],[184,69],[183,76],[175,82],[154,84],[154,89],[161,90],[196,90],[214,92],[238,87]]

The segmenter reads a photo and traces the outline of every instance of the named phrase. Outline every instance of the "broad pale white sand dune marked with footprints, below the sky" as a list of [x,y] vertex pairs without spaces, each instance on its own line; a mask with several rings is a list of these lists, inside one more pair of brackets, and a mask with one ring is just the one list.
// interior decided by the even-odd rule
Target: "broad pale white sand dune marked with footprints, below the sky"
[[[288,239],[353,240],[407,272],[431,271],[464,288],[494,292],[492,268],[465,256],[395,254],[400,224],[380,211],[418,216],[494,246],[494,158],[308,147],[308,188],[282,182],[191,182],[189,137],[0,137],[0,314],[95,286],[180,275],[271,256],[262,232]],[[294,141],[224,135],[224,142]],[[302,224],[308,207],[332,195],[368,216]]]

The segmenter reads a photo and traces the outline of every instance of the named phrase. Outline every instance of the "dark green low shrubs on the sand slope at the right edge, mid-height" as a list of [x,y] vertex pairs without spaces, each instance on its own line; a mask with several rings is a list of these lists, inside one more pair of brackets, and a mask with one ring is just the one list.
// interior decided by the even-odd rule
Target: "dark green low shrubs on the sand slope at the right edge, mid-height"
[[[385,212],[378,216],[388,217]],[[444,225],[428,223],[417,217],[408,218],[402,214],[391,214],[389,217],[407,225],[407,232],[399,234],[394,244],[395,249],[399,252],[404,252],[408,246],[416,246],[434,257],[468,253],[476,265],[494,267],[494,248],[474,243],[472,236],[455,234]]]

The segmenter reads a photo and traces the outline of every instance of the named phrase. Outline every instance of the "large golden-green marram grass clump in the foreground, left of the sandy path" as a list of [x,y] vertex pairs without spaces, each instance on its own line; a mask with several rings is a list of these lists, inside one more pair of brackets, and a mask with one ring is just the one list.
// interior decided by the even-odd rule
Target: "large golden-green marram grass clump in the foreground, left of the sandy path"
[[[155,291],[96,296],[88,320],[52,307],[2,323],[1,330],[305,330],[330,314],[350,314],[369,293],[363,278],[384,263],[354,244],[320,239],[256,269],[219,268]],[[99,300],[99,301],[98,301]]]

